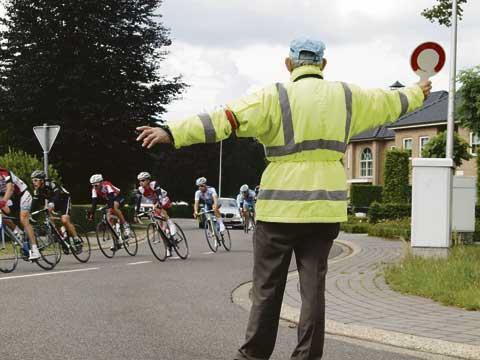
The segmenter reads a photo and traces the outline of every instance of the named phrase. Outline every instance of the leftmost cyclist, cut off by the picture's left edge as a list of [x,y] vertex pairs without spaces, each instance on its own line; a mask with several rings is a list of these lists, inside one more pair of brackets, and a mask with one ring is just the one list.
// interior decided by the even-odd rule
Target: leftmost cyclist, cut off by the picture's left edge
[[[10,211],[20,212],[20,223],[31,243],[29,260],[40,258],[37,240],[30,224],[30,211],[32,209],[32,195],[27,190],[27,185],[20,180],[11,171],[0,167],[0,209],[5,209],[6,213]],[[21,234],[18,226],[7,222],[8,226],[19,235]]]

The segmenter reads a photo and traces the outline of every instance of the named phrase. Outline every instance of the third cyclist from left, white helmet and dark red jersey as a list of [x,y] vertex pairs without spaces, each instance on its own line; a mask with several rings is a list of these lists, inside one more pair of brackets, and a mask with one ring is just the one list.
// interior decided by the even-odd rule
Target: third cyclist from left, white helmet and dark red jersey
[[[104,180],[102,174],[92,175],[90,177],[90,184],[92,185],[92,208],[88,212],[88,219],[93,220],[98,198],[102,198],[107,201],[110,210],[108,213],[108,221],[110,221],[112,214],[117,216],[120,219],[120,224],[123,226],[125,236],[129,237],[130,225],[125,221],[122,210],[120,210],[120,207],[125,202],[124,197],[120,193],[120,189],[115,187],[110,181]],[[121,245],[118,244],[118,248],[120,247]]]

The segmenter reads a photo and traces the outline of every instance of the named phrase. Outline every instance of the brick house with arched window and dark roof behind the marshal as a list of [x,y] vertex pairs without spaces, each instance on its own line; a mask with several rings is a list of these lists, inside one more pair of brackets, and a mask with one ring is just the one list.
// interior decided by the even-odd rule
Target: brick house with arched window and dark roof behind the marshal
[[[400,87],[403,85],[397,81],[391,89]],[[393,148],[410,151],[412,158],[421,157],[428,140],[447,129],[447,110],[448,92],[436,91],[430,94],[418,110],[402,116],[392,124],[354,136],[344,157],[348,182],[383,184],[386,152]],[[470,151],[476,155],[480,137],[462,127],[456,126],[455,130],[470,144]],[[476,176],[476,159],[464,161],[456,169],[456,174]]]

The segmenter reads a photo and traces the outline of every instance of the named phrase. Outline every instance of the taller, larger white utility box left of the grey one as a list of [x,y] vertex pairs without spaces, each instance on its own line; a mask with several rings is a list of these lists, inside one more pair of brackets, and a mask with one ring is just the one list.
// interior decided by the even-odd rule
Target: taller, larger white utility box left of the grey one
[[412,248],[451,246],[452,159],[413,159]]

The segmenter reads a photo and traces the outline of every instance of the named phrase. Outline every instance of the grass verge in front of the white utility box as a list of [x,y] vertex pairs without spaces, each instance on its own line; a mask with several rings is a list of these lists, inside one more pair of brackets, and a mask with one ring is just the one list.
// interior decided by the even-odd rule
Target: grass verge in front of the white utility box
[[392,289],[444,305],[480,310],[480,246],[457,246],[447,259],[411,254],[385,270]]

